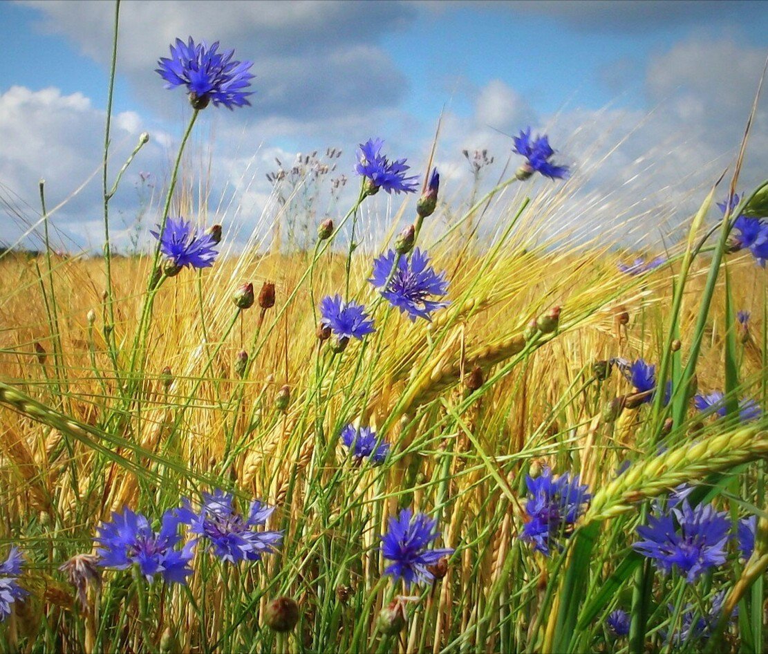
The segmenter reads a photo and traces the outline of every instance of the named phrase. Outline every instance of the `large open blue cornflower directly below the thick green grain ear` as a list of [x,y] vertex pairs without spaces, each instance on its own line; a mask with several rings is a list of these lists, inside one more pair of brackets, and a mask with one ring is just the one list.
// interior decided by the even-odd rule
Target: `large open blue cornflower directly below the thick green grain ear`
[[707,569],[725,563],[729,530],[726,513],[710,504],[691,508],[686,500],[670,513],[650,516],[647,526],[638,526],[643,540],[633,547],[654,559],[664,573],[677,567],[693,583]]

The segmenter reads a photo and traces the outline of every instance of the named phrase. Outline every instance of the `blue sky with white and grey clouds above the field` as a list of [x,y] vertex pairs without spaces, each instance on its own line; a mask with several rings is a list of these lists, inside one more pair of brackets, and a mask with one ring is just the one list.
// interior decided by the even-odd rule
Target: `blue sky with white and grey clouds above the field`
[[[183,93],[154,72],[177,36],[220,40],[253,61],[253,107],[209,108],[197,132],[212,157],[211,196],[235,197],[246,223],[270,204],[274,158],[290,166],[297,152],[334,146],[344,152],[337,171],[351,177],[356,144],[380,136],[421,172],[441,112],[435,161],[449,191],[471,178],[462,149],[488,148],[498,175],[509,134],[531,125],[574,168],[574,215],[607,205],[601,198],[615,206],[621,189],[638,214],[666,207],[671,217],[732,163],[768,55],[768,3],[740,0],[124,0],[120,18],[111,169],[151,134],[114,199],[123,240],[139,173],[164,179],[189,115]],[[0,241],[38,219],[45,178],[49,206],[64,202],[52,218],[62,244],[101,246],[113,24],[111,2],[0,2]],[[765,101],[743,181],[763,177]]]

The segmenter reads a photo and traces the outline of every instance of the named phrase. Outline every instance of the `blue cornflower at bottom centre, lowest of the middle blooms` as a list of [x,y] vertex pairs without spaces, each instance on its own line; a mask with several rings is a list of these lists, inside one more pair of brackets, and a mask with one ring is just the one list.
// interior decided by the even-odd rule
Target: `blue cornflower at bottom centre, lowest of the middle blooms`
[[384,573],[402,579],[406,587],[432,581],[434,575],[428,566],[454,551],[451,548],[427,549],[438,536],[437,520],[424,513],[414,516],[410,509],[403,509],[398,517],[389,518],[389,530],[381,537],[382,554],[393,563]]

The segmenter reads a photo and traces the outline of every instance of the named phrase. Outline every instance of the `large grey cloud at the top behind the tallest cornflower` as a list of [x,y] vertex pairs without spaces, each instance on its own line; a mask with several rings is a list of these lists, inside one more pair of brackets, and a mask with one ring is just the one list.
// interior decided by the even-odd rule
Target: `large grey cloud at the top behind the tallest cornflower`
[[[29,2],[41,28],[65,35],[95,61],[111,56],[110,2]],[[377,41],[415,8],[390,2],[183,2],[121,5],[119,67],[147,105],[167,111],[154,73],[175,38],[219,40],[254,62],[254,108],[265,118],[338,118],[398,105],[402,72]],[[215,33],[212,26],[215,25]],[[236,112],[243,120],[242,112]]]

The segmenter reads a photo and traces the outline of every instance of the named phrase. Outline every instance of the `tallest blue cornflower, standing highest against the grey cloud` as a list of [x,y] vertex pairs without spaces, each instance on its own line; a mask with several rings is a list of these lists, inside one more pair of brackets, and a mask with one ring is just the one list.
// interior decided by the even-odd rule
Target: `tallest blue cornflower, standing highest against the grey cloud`
[[165,88],[186,86],[192,106],[204,109],[208,102],[227,109],[250,105],[247,100],[253,74],[248,69],[251,61],[233,61],[234,50],[219,52],[219,41],[210,47],[205,41],[197,45],[190,36],[189,42],[176,39],[170,46],[170,58],[161,57],[155,72],[167,84]]

